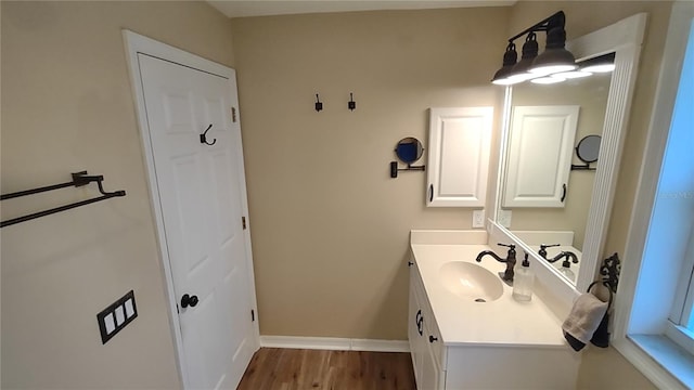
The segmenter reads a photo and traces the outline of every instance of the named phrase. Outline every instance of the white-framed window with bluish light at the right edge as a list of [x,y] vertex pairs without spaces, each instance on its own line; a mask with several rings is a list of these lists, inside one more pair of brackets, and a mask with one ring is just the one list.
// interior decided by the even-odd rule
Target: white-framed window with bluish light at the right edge
[[[694,388],[693,22],[694,4],[676,2],[625,252],[614,337],[615,347],[634,366],[668,389]],[[630,295],[631,302],[625,298]]]

